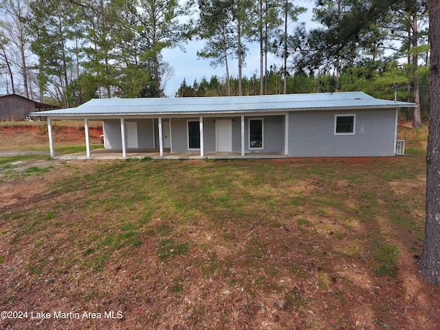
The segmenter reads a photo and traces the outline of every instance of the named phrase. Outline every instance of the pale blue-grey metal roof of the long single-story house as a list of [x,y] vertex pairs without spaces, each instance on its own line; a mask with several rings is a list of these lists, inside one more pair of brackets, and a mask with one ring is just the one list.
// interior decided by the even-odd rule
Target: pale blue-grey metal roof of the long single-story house
[[408,108],[417,104],[373,98],[362,91],[214,98],[96,98],[76,108],[34,112],[51,117],[94,115],[182,115],[334,109]]

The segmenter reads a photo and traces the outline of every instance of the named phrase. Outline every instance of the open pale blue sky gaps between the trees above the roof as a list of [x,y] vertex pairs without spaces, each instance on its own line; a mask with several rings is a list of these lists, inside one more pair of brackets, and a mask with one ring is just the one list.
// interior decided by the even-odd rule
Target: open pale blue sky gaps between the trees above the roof
[[[296,5],[300,5],[305,8],[309,8],[307,13],[302,14],[298,22],[305,22],[307,26],[310,25],[311,19],[311,8],[314,7],[314,1],[310,0],[299,0],[296,1]],[[291,29],[294,29],[294,23],[291,25]],[[177,89],[179,89],[181,82],[186,79],[188,85],[192,85],[194,80],[200,81],[203,76],[206,79],[210,79],[211,76],[217,75],[219,78],[225,77],[225,68],[210,67],[209,59],[198,59],[197,51],[203,48],[203,41],[191,41],[186,45],[186,52],[182,52],[179,48],[172,50],[164,50],[162,55],[164,56],[164,61],[173,67],[175,70],[174,76],[168,80],[165,86],[165,94],[168,97],[174,97]],[[260,67],[260,55],[259,55],[259,45],[247,45],[250,50],[245,58],[246,66],[243,68],[243,76],[252,76],[254,73],[259,76]],[[281,59],[271,56],[268,58],[267,65],[276,64],[277,67],[281,66]],[[237,63],[231,60],[229,63],[229,70],[231,76],[238,76]]]

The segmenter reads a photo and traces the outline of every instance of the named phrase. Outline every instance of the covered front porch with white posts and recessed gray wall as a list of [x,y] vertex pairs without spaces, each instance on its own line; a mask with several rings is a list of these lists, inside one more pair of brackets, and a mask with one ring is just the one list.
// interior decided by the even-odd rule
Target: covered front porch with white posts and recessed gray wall
[[[104,149],[90,146],[91,120],[102,121]],[[52,118],[47,118],[53,159],[287,157],[288,121],[289,113],[84,118],[86,151],[55,155]]]

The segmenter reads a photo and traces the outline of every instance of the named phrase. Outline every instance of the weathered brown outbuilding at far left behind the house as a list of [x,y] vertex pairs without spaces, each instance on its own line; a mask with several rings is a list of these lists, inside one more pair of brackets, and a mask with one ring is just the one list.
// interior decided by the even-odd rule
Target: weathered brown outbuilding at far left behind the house
[[25,120],[31,112],[47,109],[54,109],[54,106],[36,102],[17,94],[0,96],[0,120]]

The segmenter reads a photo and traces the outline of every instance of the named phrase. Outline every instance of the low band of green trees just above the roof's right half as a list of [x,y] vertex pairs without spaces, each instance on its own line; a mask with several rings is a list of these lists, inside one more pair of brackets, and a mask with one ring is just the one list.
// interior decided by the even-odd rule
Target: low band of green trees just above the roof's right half
[[[385,65],[385,63],[384,63]],[[243,95],[259,95],[261,79],[254,74],[242,79]],[[364,67],[349,67],[340,72],[337,78],[332,74],[319,76],[309,76],[294,73],[287,77],[279,72],[271,70],[267,73],[263,83],[267,94],[283,94],[284,83],[286,82],[287,94],[295,93],[322,93],[338,91],[364,91],[376,98],[392,99],[397,96],[397,100],[412,100],[412,89],[407,83],[408,74],[403,67],[397,63],[388,63],[386,68],[369,72]],[[429,116],[429,75],[422,71],[419,74],[419,102],[421,108],[421,119],[428,120]],[[397,83],[397,85],[396,85]],[[176,97],[195,97],[195,96],[227,96],[228,90],[232,95],[236,95],[238,89],[238,79],[230,77],[229,87],[223,77],[211,76],[208,80],[202,77],[188,83],[182,81],[176,92]],[[395,89],[397,87],[397,95]],[[409,87],[409,88],[408,88]],[[408,120],[412,120],[412,109],[401,113]]]

